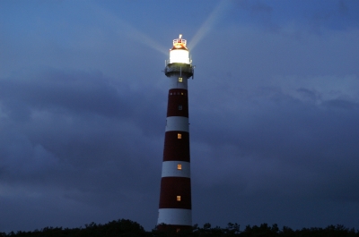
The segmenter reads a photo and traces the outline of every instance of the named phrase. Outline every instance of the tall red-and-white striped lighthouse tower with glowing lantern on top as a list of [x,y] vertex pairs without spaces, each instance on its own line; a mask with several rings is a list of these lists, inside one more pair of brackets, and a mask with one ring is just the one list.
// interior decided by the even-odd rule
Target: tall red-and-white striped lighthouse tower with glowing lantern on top
[[171,224],[177,231],[192,225],[189,165],[188,79],[194,67],[186,39],[176,38],[165,62],[170,80],[164,136],[158,229]]

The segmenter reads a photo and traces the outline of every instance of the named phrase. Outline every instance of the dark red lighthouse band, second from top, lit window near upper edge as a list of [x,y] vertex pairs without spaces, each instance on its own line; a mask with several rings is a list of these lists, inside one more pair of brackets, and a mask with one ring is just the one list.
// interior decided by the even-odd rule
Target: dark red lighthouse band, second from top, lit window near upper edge
[[[178,134],[181,139],[178,139]],[[189,133],[187,131],[166,131],[164,135],[163,161],[190,161]]]

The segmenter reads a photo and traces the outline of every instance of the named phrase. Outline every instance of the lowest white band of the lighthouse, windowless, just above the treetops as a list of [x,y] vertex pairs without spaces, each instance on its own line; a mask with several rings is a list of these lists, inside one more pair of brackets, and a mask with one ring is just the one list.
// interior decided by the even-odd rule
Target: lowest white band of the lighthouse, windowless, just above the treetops
[[161,208],[158,210],[157,224],[192,225],[192,210]]

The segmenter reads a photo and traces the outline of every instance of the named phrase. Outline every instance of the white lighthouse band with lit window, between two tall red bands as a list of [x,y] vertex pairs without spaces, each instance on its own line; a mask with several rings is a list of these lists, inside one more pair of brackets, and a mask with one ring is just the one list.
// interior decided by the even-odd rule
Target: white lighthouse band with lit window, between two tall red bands
[[[178,169],[178,165],[181,169]],[[190,178],[190,166],[186,161],[163,161],[162,177],[185,177]]]

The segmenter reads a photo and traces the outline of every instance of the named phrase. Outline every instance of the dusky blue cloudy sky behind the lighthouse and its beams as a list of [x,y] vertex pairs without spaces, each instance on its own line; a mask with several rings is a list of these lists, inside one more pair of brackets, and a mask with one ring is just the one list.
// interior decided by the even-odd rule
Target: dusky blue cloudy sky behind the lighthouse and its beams
[[157,222],[173,38],[193,223],[359,229],[359,1],[0,2],[0,232]]

